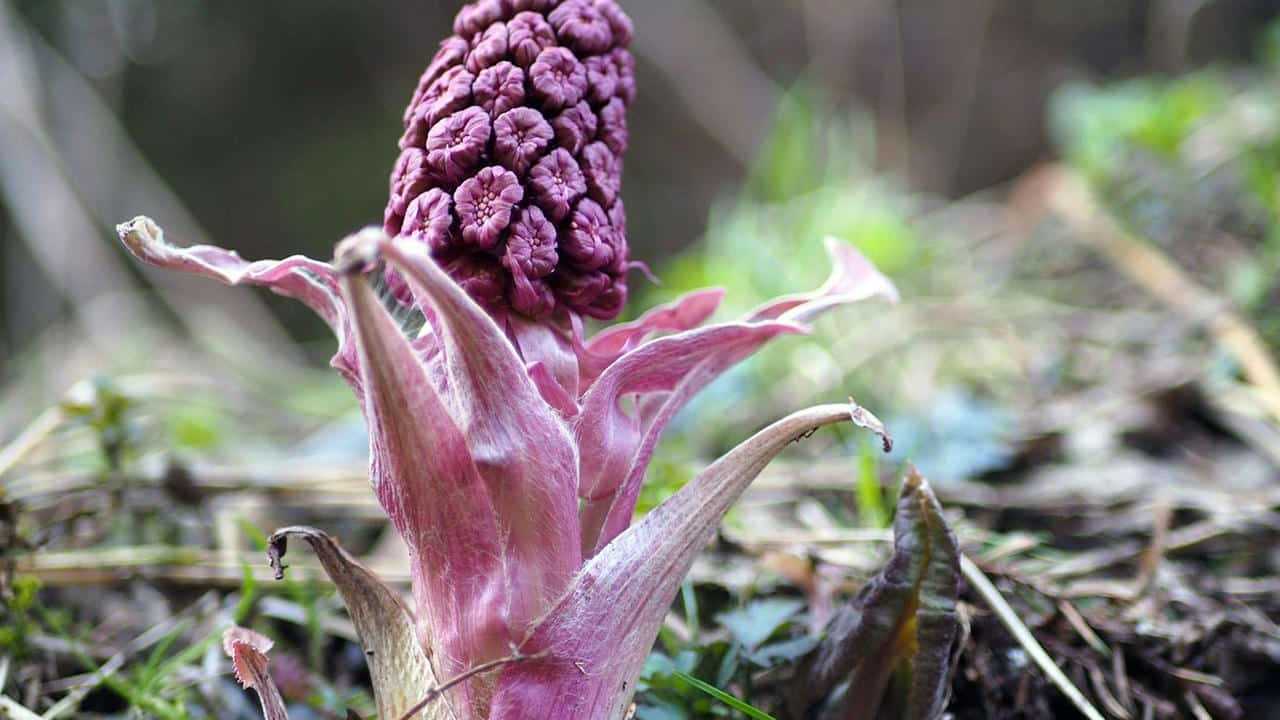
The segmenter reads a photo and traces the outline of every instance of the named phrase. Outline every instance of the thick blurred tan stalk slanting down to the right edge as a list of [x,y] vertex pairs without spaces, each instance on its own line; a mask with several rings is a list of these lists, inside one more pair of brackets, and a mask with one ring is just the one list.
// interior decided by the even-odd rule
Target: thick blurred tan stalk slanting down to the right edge
[[1065,169],[1050,172],[1053,179],[1050,208],[1129,279],[1188,322],[1206,324],[1240,364],[1271,419],[1280,423],[1280,370],[1257,331],[1226,300],[1189,278],[1153,245],[1120,227],[1083,178]]

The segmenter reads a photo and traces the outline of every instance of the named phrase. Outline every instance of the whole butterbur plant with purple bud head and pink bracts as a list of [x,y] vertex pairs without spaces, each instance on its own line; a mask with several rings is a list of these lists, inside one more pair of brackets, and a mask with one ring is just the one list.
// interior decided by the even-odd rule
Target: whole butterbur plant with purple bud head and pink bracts
[[[663,429],[769,341],[895,290],[828,241],[833,272],[814,292],[722,324],[704,324],[721,293],[695,292],[588,338],[584,318],[622,309],[632,265],[618,179],[630,20],[613,0],[484,0],[454,29],[406,114],[383,227],[333,263],[177,247],[147,218],[119,234],[145,263],[269,287],[333,328],[374,492],[408,546],[412,607],[319,530],[282,530],[273,555],[280,568],[296,534],[319,553],[380,717],[617,719],[694,556],[764,465],[822,425],[882,430],[851,404],[799,411],[632,524]],[[421,331],[397,322],[406,309]],[[262,692],[261,643],[228,643]]]

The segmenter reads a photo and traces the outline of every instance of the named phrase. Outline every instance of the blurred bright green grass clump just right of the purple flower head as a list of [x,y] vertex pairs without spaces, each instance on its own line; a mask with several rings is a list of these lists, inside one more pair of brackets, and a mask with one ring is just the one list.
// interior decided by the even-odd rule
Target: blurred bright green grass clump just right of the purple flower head
[[707,236],[660,269],[663,286],[640,306],[717,286],[742,310],[813,288],[829,268],[828,234],[891,275],[922,261],[913,204],[873,177],[873,156],[865,118],[836,113],[812,86],[796,87],[781,100],[742,192],[713,208]]

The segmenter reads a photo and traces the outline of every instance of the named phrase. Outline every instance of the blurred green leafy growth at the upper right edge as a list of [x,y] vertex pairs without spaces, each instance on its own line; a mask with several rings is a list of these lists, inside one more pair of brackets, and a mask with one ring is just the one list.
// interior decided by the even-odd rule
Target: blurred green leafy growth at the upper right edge
[[1243,68],[1065,87],[1050,124],[1123,223],[1280,348],[1280,23],[1258,46]]

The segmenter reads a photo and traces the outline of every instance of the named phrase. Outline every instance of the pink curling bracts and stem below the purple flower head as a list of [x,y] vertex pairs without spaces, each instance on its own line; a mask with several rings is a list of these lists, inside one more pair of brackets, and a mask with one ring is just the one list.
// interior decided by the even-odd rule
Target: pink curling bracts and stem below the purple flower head
[[[539,224],[521,217],[527,242],[504,259],[538,283],[554,264]],[[632,525],[663,429],[771,340],[808,332],[833,306],[896,297],[861,255],[828,241],[835,268],[818,291],[722,324],[705,324],[722,293],[699,291],[586,338],[564,309],[534,322],[481,306],[488,290],[460,278],[484,283],[489,270],[445,269],[424,243],[380,229],[344,241],[334,264],[175,247],[146,218],[119,232],[148,264],[269,287],[333,328],[332,364],[369,423],[374,492],[410,547],[434,676],[512,648],[527,657],[453,687],[442,702],[458,720],[621,717],[681,578],[728,506],[786,445],[851,411],[820,406],[771,425]],[[378,261],[408,286],[421,333],[404,334],[375,296],[365,273]]]

